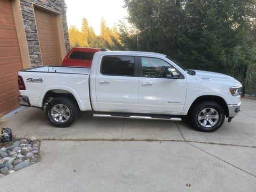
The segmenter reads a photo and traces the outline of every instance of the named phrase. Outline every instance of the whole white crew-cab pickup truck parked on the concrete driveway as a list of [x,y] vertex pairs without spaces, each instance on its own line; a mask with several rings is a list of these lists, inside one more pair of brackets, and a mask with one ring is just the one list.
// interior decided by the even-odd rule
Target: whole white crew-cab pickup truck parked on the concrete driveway
[[51,124],[67,127],[79,111],[94,117],[182,120],[213,132],[240,111],[242,85],[215,72],[186,69],[163,54],[95,53],[91,68],[42,66],[18,74],[22,106],[46,110]]

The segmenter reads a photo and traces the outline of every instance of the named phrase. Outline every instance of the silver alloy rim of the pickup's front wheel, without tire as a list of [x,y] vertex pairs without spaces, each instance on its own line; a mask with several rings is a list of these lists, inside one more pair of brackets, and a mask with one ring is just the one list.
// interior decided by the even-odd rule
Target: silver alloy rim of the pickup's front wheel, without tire
[[219,114],[214,108],[204,108],[198,115],[198,122],[203,127],[212,127],[219,120]]

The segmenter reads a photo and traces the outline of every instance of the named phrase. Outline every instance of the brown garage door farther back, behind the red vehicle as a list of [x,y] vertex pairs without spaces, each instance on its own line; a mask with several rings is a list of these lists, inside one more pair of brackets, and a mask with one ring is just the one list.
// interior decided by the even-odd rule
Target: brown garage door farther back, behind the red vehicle
[[35,15],[43,65],[61,65],[61,48],[56,15],[36,7]]

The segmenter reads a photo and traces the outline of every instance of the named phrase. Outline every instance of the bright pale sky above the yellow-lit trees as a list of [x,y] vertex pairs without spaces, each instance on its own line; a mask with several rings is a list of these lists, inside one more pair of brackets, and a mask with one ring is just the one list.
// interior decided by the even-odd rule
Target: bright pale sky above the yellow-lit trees
[[67,4],[68,26],[75,25],[81,29],[82,19],[85,17],[96,35],[100,33],[100,21],[103,17],[109,27],[113,27],[118,20],[127,16],[123,0],[65,0]]

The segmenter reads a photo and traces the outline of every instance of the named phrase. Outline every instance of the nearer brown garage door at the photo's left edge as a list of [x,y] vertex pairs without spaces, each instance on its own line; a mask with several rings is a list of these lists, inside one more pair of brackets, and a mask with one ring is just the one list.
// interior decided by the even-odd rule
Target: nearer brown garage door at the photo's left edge
[[0,0],[0,113],[17,108],[17,73],[21,70],[21,53],[10,0]]

